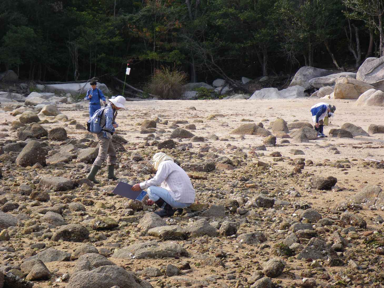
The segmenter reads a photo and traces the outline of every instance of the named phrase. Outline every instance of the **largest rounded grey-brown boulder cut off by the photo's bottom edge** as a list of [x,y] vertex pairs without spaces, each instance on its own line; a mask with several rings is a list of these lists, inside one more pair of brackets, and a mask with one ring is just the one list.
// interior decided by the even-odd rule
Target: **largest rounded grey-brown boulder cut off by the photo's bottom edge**
[[67,288],[152,288],[135,273],[116,265],[104,265],[91,271],[76,271],[68,281]]

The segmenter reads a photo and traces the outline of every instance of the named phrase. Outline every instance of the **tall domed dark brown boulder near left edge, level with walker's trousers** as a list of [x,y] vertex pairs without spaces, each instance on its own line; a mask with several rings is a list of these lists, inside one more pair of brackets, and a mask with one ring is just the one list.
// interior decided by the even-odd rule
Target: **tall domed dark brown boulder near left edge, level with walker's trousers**
[[25,145],[22,152],[17,156],[16,164],[22,167],[33,166],[36,163],[45,165],[46,154],[47,152],[41,147],[40,142],[32,140]]

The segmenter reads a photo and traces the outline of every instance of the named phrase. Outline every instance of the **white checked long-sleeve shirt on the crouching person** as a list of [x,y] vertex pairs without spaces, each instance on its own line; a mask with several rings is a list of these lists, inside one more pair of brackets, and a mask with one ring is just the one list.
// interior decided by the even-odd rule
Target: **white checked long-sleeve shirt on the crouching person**
[[173,161],[164,161],[159,165],[156,176],[140,183],[141,189],[149,186],[160,186],[179,203],[195,202],[195,189],[187,173]]

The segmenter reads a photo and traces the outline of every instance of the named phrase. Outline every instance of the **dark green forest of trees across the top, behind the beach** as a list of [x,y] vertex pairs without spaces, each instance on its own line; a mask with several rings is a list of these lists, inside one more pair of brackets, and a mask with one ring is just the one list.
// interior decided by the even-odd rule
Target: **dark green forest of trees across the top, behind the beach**
[[346,69],[383,56],[382,0],[2,0],[0,71],[20,79],[111,76],[157,68],[189,81]]

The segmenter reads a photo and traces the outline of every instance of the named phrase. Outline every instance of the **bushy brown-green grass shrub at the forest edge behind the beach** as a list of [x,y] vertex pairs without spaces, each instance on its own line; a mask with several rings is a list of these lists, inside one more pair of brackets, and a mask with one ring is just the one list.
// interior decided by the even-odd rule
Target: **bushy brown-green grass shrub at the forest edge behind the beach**
[[187,75],[184,72],[162,67],[155,70],[147,90],[161,99],[180,99],[185,91],[183,85],[186,81]]

